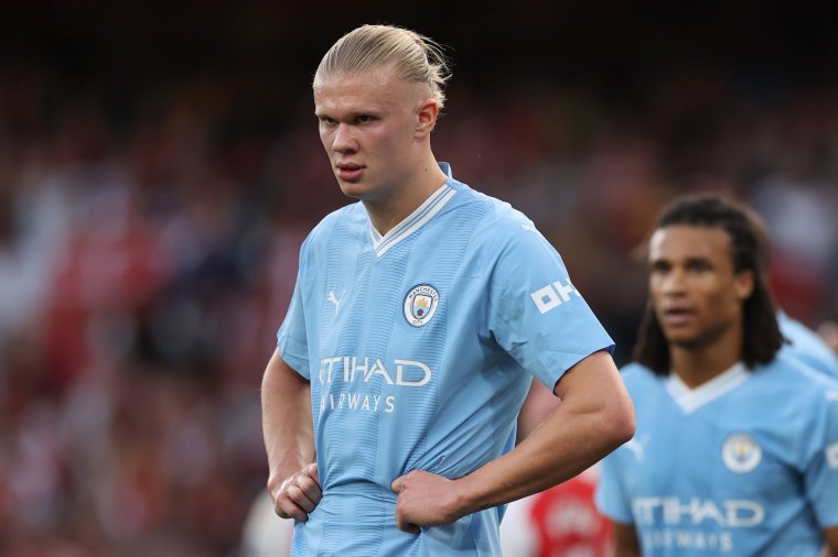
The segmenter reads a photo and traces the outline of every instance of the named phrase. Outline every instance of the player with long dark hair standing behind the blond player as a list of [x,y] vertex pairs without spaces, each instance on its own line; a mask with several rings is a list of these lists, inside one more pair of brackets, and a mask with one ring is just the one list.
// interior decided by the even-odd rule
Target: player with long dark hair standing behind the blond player
[[838,551],[838,382],[781,353],[758,234],[713,195],[658,217],[623,370],[636,434],[597,492],[617,555]]

